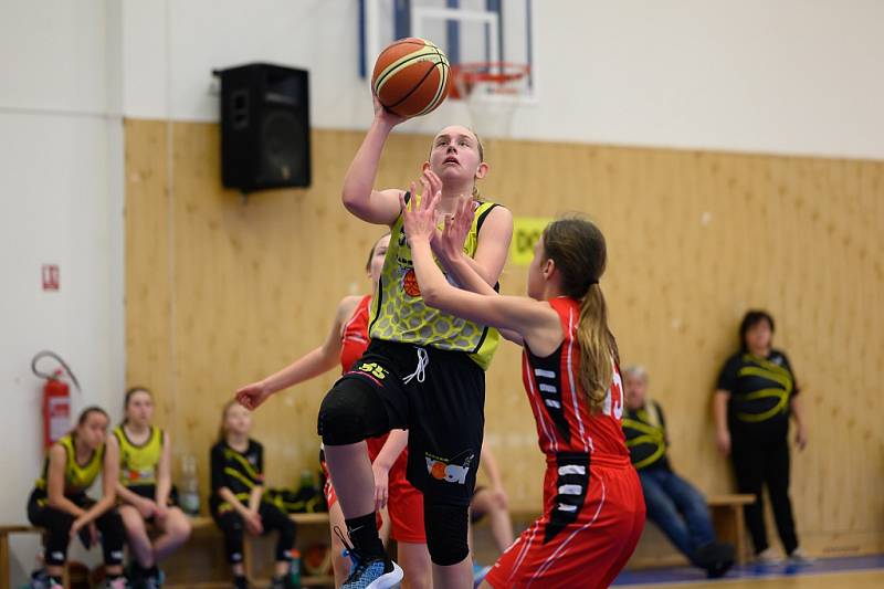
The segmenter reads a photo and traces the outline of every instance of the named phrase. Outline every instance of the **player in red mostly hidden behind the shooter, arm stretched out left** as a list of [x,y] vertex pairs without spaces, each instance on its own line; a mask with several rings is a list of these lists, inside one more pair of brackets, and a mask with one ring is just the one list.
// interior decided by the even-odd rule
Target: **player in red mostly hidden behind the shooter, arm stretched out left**
[[[366,271],[375,285],[378,283],[389,242],[389,233],[378,240],[366,264]],[[239,389],[236,400],[249,409],[255,409],[274,392],[319,376],[338,362],[341,372],[349,370],[368,347],[371,296],[347,296],[341,299],[335,314],[335,324],[322,346],[275,375]],[[392,430],[389,434],[370,438],[367,442],[375,474],[376,506],[377,509],[387,506],[390,516],[390,536],[398,543],[399,558],[406,572],[402,587],[406,589],[429,587],[431,565],[430,554],[427,550],[427,536],[423,532],[423,495],[406,480],[408,432]],[[323,469],[326,470],[324,461]],[[327,470],[324,491],[332,527],[335,585],[339,586],[349,574],[349,561],[341,556],[344,545],[335,528],[346,529],[346,526]]]

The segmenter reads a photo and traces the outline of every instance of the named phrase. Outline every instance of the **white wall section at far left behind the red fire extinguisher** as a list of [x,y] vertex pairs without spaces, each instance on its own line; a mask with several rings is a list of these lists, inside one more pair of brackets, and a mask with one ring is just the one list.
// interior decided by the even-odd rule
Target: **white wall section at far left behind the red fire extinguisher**
[[[0,8],[2,523],[25,522],[42,463],[34,353],[49,348],[70,362],[83,385],[74,411],[95,403],[119,416],[123,133],[113,4],[7,0]],[[60,265],[56,293],[41,290],[44,263]],[[14,586],[34,564],[36,537],[14,536],[12,549]]]

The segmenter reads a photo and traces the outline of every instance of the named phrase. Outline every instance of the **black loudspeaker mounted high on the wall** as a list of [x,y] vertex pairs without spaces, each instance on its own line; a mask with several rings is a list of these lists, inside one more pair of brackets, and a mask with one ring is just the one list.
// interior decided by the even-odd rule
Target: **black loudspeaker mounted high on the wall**
[[309,84],[305,70],[253,63],[221,77],[221,179],[253,192],[311,185]]

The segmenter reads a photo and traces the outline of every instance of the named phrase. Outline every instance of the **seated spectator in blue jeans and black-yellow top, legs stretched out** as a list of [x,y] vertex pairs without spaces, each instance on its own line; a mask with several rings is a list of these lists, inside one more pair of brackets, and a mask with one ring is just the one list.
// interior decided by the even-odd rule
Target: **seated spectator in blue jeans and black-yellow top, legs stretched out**
[[660,404],[648,397],[648,372],[631,366],[623,376],[623,433],[642,483],[648,518],[693,565],[706,569],[711,578],[722,577],[734,564],[734,546],[715,540],[706,499],[670,465],[666,422]]

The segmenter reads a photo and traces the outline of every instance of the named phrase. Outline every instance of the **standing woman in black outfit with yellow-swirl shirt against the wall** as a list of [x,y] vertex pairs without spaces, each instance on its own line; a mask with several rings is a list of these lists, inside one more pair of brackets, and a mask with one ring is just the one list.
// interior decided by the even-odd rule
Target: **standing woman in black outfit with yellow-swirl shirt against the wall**
[[798,547],[789,499],[789,417],[798,428],[796,444],[803,450],[807,427],[799,388],[786,354],[771,347],[774,318],[749,311],[739,328],[740,350],[727,359],[715,391],[718,449],[729,454],[740,493],[755,503],[745,507],[746,525],[759,564],[779,561],[767,541],[762,486],[767,484],[777,530],[791,564],[808,564]]

